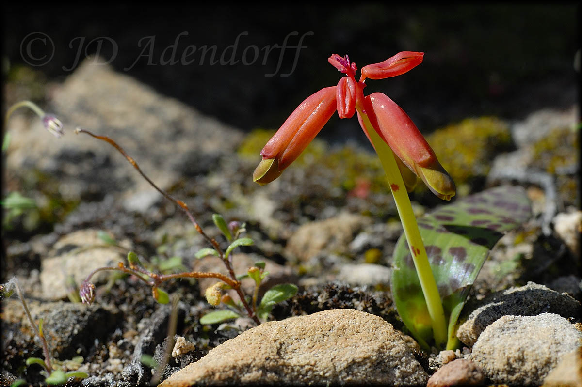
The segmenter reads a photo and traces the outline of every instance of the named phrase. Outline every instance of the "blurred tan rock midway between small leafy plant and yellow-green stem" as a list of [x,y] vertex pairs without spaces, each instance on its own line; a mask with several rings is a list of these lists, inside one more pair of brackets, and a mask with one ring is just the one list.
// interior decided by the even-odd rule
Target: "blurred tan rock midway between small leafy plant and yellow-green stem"
[[287,241],[287,252],[301,261],[307,261],[322,251],[345,252],[354,235],[370,218],[342,213],[332,218],[301,225]]

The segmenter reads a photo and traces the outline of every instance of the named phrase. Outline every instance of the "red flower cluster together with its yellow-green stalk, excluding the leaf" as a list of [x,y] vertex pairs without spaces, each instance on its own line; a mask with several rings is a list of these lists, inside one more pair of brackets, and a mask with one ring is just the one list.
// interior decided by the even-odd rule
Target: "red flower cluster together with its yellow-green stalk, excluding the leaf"
[[447,337],[445,313],[408,192],[420,178],[438,198],[450,200],[456,193],[455,183],[400,106],[382,93],[365,97],[363,93],[367,78],[378,80],[399,76],[422,63],[423,56],[423,52],[403,51],[384,62],[368,64],[361,69],[360,81],[356,82],[356,63],[347,54],[343,57],[332,54],[328,62],[345,76],[337,86],[323,88],[309,96],[289,116],[261,150],[262,160],[254,171],[253,180],[263,185],[278,178],[303,152],[333,112],[338,112],[340,119],[350,118],[357,112],[360,126],[378,153],[388,177],[427,304],[435,345],[442,347]]

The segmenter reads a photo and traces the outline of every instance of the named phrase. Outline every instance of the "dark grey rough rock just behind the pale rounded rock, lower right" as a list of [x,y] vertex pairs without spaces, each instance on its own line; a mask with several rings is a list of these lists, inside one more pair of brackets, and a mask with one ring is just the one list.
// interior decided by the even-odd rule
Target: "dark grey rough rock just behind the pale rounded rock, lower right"
[[506,315],[555,313],[562,317],[573,317],[578,316],[580,309],[580,302],[566,293],[558,293],[534,282],[493,293],[479,304],[457,330],[457,338],[468,346],[477,342],[485,328]]

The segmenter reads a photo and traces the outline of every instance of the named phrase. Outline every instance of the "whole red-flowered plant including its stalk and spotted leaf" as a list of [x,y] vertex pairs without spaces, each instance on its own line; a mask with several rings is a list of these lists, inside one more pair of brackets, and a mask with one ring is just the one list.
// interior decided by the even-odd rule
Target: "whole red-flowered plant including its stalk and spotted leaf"
[[[457,294],[454,303],[446,299],[447,308],[443,307],[445,297],[457,291],[457,288],[451,286],[449,293],[441,291],[442,286],[439,288],[441,284],[437,284],[434,273],[448,278],[452,272],[442,270],[433,256],[429,260],[408,192],[414,189],[420,178],[436,196],[450,200],[456,193],[455,184],[404,110],[382,93],[364,96],[367,79],[380,80],[404,74],[418,66],[423,56],[423,52],[404,51],[384,62],[368,64],[362,67],[360,79],[356,82],[356,63],[350,62],[347,55],[331,55],[328,62],[345,76],[340,78],[336,86],[322,88],[294,110],[261,150],[262,160],[253,173],[253,180],[264,185],[278,178],[307,148],[333,113],[338,112],[340,119],[351,118],[356,114],[364,134],[381,160],[404,229],[398,245],[399,256],[395,254],[393,263],[392,291],[396,309],[411,334],[425,349],[431,345],[438,349],[452,349],[457,345],[454,328],[467,292],[464,289],[462,294]],[[453,217],[449,218],[454,220]],[[467,218],[461,220],[466,221]],[[445,229],[441,227],[439,230]],[[456,235],[454,232],[451,234]],[[407,248],[403,247],[404,240]],[[436,251],[433,247],[431,245],[431,254]],[[409,254],[405,255],[404,250],[408,250]],[[485,250],[488,252],[488,249]],[[410,263],[407,271],[401,271],[400,260],[403,257]],[[470,287],[486,257],[487,254],[483,257],[480,251],[478,259],[474,258],[474,264],[471,263],[476,273],[475,270],[467,270],[457,282],[466,288]],[[448,258],[452,260],[450,256]],[[443,262],[446,263],[446,260]],[[412,311],[407,310],[411,304],[407,302],[406,291],[402,292],[407,288],[416,291],[413,297],[416,304]]]

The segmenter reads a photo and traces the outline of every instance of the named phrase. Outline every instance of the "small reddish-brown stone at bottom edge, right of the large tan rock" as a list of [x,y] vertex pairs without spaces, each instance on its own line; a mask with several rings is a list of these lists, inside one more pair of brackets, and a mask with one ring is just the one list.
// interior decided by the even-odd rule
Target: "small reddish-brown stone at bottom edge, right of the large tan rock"
[[470,360],[457,359],[432,374],[427,387],[480,386],[484,382],[485,375],[477,364]]

